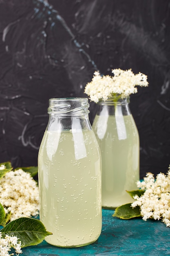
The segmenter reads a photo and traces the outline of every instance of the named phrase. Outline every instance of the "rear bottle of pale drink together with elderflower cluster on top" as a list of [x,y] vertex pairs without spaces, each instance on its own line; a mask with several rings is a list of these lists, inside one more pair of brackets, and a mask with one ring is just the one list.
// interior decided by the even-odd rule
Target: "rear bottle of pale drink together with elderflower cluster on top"
[[131,202],[126,190],[137,189],[139,135],[129,108],[137,85],[148,86],[147,76],[132,70],[112,70],[114,76],[95,72],[84,92],[98,103],[93,130],[102,155],[102,206],[117,208]]

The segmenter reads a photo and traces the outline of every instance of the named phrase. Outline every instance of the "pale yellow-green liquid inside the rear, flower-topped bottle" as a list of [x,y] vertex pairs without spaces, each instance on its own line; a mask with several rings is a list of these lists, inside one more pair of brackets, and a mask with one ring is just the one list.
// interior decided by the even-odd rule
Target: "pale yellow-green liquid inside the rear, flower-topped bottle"
[[[115,116],[96,116],[93,123],[102,155],[102,207],[104,208],[114,209],[132,202],[126,190],[137,189],[136,182],[139,180],[138,131],[132,115],[123,118],[126,139],[118,138]],[[107,128],[104,124],[107,124]],[[99,137],[103,138],[99,139]]]

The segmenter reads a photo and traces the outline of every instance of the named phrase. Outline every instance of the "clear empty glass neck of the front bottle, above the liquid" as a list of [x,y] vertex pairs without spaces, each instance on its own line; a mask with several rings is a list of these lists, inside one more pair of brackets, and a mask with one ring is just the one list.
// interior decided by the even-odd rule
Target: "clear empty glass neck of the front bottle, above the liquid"
[[91,130],[87,98],[54,98],[49,100],[47,130]]

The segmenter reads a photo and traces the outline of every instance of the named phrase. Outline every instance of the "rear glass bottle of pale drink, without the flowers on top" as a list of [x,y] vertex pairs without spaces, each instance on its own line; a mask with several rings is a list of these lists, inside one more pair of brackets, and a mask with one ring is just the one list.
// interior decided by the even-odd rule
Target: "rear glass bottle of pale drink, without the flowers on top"
[[139,134],[129,98],[98,103],[93,130],[102,155],[102,207],[115,209],[132,202],[127,191],[139,180]]

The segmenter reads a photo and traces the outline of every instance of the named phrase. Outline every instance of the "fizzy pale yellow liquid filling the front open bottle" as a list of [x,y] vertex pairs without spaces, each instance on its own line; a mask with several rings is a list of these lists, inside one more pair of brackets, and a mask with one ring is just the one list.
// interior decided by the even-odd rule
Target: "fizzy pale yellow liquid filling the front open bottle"
[[40,220],[46,242],[78,247],[102,229],[101,158],[93,131],[46,131],[38,155]]

